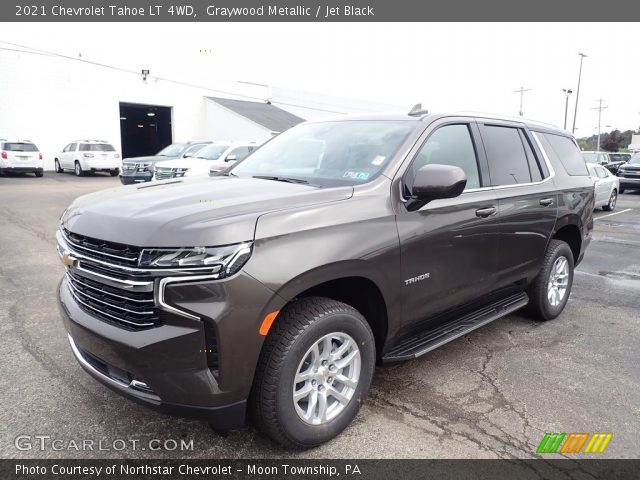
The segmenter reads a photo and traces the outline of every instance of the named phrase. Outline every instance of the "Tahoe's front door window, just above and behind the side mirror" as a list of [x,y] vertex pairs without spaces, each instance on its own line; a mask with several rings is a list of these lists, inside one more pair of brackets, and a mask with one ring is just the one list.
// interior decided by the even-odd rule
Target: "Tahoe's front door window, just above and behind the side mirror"
[[467,175],[465,190],[480,188],[476,150],[473,146],[469,126],[466,124],[445,125],[429,136],[420,147],[420,151],[405,175],[405,185],[409,189],[413,185],[416,172],[429,164],[460,167]]

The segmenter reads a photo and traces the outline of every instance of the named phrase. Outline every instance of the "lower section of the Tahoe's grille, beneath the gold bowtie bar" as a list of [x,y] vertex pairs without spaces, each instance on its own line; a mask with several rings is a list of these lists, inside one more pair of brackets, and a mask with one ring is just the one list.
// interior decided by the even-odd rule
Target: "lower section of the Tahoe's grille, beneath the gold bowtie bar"
[[150,328],[160,324],[160,310],[155,306],[153,291],[130,292],[67,270],[71,294],[80,308],[92,316],[131,329]]

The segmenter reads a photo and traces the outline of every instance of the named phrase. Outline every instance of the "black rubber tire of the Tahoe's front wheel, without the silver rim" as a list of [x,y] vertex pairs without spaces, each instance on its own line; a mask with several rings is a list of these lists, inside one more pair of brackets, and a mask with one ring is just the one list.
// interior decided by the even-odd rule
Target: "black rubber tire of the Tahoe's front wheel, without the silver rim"
[[[360,351],[360,376],[351,400],[321,425],[303,421],[294,406],[294,378],[308,350],[333,333],[349,335]],[[358,413],[375,368],[375,340],[353,307],[323,297],[307,297],[278,315],[265,340],[249,399],[256,426],[286,448],[311,448],[339,435]],[[329,380],[331,381],[331,380]],[[321,387],[316,387],[321,388]]]

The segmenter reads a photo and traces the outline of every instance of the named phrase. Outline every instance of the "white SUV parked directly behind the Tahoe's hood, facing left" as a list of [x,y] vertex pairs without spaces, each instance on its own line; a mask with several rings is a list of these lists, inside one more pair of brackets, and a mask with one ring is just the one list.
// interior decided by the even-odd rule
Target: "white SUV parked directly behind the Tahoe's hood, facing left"
[[176,177],[195,177],[221,172],[243,160],[256,150],[254,143],[214,142],[198,150],[193,157],[177,158],[156,163],[156,180]]

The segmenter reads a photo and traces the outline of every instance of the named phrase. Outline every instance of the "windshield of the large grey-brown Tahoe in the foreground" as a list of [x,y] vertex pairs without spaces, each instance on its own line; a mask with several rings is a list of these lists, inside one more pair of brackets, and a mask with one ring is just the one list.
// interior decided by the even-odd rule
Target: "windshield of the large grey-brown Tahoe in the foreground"
[[365,183],[380,173],[415,126],[406,120],[302,124],[260,147],[231,172],[319,186]]

